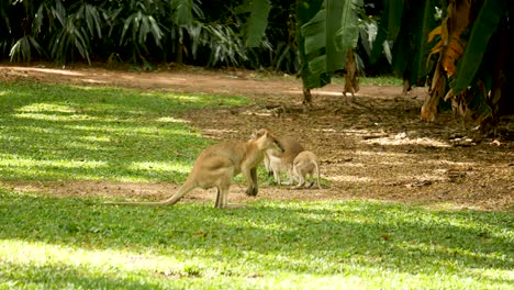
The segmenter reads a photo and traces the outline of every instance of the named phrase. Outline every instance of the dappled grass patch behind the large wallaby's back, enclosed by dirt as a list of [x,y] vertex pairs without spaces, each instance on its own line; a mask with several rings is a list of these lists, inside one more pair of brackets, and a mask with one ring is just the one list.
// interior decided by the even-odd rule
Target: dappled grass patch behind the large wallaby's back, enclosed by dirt
[[248,102],[37,82],[0,81],[0,92],[2,179],[181,182],[210,142],[177,113]]

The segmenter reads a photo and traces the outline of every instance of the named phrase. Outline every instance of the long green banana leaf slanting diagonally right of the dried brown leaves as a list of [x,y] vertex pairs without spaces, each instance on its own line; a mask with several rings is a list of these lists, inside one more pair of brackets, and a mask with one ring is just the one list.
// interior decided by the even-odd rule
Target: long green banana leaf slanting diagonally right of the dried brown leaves
[[[482,8],[473,22],[469,42],[462,57],[457,64],[456,79],[450,85],[457,94],[473,80],[482,63],[489,40],[498,30],[498,24],[507,11],[509,0],[484,0]],[[511,15],[512,16],[512,15]]]

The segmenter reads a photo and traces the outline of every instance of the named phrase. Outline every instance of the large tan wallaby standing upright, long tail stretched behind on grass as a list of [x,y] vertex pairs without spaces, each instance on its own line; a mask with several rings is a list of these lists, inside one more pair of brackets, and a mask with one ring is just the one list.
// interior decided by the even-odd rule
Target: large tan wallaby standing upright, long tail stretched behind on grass
[[228,141],[209,146],[200,153],[188,179],[172,197],[159,202],[109,202],[108,204],[168,205],[177,203],[195,188],[216,188],[214,208],[237,208],[237,204],[228,204],[227,201],[233,177],[242,172],[248,183],[246,194],[257,196],[257,166],[262,161],[267,149],[283,150],[282,145],[268,130],[262,130],[262,134],[256,140]]

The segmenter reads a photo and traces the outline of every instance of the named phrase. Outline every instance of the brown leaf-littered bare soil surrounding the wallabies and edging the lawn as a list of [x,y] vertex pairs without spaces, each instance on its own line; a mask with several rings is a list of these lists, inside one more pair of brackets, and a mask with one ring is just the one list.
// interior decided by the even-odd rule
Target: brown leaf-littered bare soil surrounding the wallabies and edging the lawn
[[[246,96],[254,100],[253,104],[188,111],[180,118],[213,140],[247,140],[254,129],[260,127],[294,136],[319,156],[324,179],[321,190],[261,185],[257,198],[366,199],[433,209],[514,211],[514,122],[502,122],[494,138],[473,135],[450,113],[426,123],[420,119],[425,88],[402,96],[401,87],[361,85],[351,101],[342,97],[343,83],[329,85],[314,90],[313,105],[305,108],[301,104],[301,80],[246,70],[164,68],[138,72],[3,65],[0,77]],[[0,186],[67,197],[160,199],[175,192],[179,185],[20,180]],[[244,186],[235,185],[230,199],[255,199],[243,192]],[[187,199],[213,202],[214,192],[195,190]]]

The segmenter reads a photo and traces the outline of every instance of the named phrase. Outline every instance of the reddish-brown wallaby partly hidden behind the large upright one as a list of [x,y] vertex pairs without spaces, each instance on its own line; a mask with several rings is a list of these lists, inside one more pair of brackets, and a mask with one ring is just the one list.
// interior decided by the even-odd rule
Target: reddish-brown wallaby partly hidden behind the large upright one
[[[260,131],[254,132],[252,135],[253,140],[256,140],[262,134]],[[294,157],[303,150],[303,146],[291,137],[278,137],[280,144],[282,144],[283,150],[268,149],[265,152],[264,165],[268,175],[273,175],[275,181],[280,186],[281,178],[280,175],[282,171],[288,172],[289,183],[293,182],[292,180],[292,163]]]

